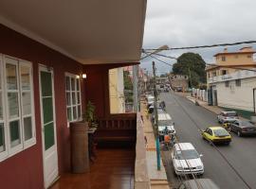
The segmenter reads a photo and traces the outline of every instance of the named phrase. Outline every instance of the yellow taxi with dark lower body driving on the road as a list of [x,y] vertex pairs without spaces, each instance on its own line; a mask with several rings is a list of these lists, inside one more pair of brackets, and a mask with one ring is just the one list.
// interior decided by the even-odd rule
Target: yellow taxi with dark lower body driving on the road
[[231,135],[222,127],[210,127],[202,131],[203,139],[213,144],[226,144],[231,142]]

